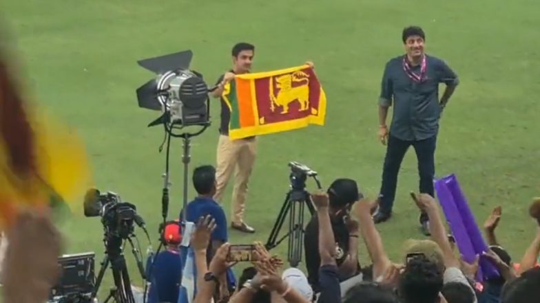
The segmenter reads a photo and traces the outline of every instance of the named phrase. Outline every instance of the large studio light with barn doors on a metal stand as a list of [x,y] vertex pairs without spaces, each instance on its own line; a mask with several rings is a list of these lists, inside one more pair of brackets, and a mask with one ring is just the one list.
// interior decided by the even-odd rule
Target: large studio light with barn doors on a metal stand
[[[161,226],[163,227],[167,224],[167,214],[169,212],[169,187],[171,186],[169,181],[169,150],[171,137],[181,137],[184,143],[182,162],[184,164],[183,209],[185,210],[187,206],[190,139],[191,137],[200,135],[210,126],[210,101],[208,93],[217,89],[217,86],[209,88],[203,80],[202,74],[189,69],[192,56],[193,52],[191,50],[185,50],[183,52],[137,61],[138,65],[149,71],[153,71],[155,74],[155,78],[150,79],[136,89],[138,106],[144,109],[162,111],[163,113],[157,120],[148,125],[155,126],[163,124],[165,128],[165,140],[163,144],[165,144],[165,141],[167,142],[167,156],[161,197],[161,215],[163,216],[163,225]],[[187,126],[203,126],[203,128],[196,133],[173,133],[173,129],[182,129]],[[162,151],[163,144],[160,146],[160,152]],[[185,218],[186,215],[183,212],[180,220],[182,221],[180,222],[181,225],[185,224]],[[152,267],[154,267],[154,262],[156,262],[156,257],[161,247],[163,247],[163,241],[160,240],[158,251],[148,270],[148,276],[150,278],[152,277]],[[147,289],[145,289],[145,301],[146,291]]]

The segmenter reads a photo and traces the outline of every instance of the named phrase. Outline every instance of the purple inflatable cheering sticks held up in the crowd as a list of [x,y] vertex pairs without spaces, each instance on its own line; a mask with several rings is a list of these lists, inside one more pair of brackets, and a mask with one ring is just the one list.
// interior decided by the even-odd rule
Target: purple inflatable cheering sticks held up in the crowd
[[[455,175],[448,175],[435,181],[435,190],[441,203],[446,221],[456,240],[459,253],[466,262],[472,262],[477,255],[488,250],[488,245],[482,238],[467,200],[459,187]],[[499,277],[495,265],[485,258],[480,258],[477,281]]]

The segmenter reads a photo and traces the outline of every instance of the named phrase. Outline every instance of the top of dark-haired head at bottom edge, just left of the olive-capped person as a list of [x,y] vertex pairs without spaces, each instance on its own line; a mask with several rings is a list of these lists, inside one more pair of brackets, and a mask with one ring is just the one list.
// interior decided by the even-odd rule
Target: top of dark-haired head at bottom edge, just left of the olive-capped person
[[399,303],[392,289],[373,282],[360,282],[347,291],[343,303]]

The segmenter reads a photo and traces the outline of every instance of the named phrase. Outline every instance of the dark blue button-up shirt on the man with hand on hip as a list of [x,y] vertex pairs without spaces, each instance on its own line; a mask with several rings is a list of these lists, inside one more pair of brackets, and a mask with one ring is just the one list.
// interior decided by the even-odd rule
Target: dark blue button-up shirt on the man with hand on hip
[[[426,55],[425,80],[415,82],[406,74],[403,58],[386,63],[379,104],[394,106],[391,135],[404,141],[428,139],[439,131],[439,84],[457,85],[459,80],[443,60]],[[420,69],[420,65],[412,67],[415,74],[420,74]]]

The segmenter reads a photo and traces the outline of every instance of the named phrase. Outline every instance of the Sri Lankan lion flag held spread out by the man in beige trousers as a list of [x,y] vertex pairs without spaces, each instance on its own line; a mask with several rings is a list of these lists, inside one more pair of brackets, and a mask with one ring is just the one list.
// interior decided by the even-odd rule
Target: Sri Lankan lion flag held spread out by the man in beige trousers
[[324,125],[326,95],[309,65],[237,75],[222,97],[231,139]]

